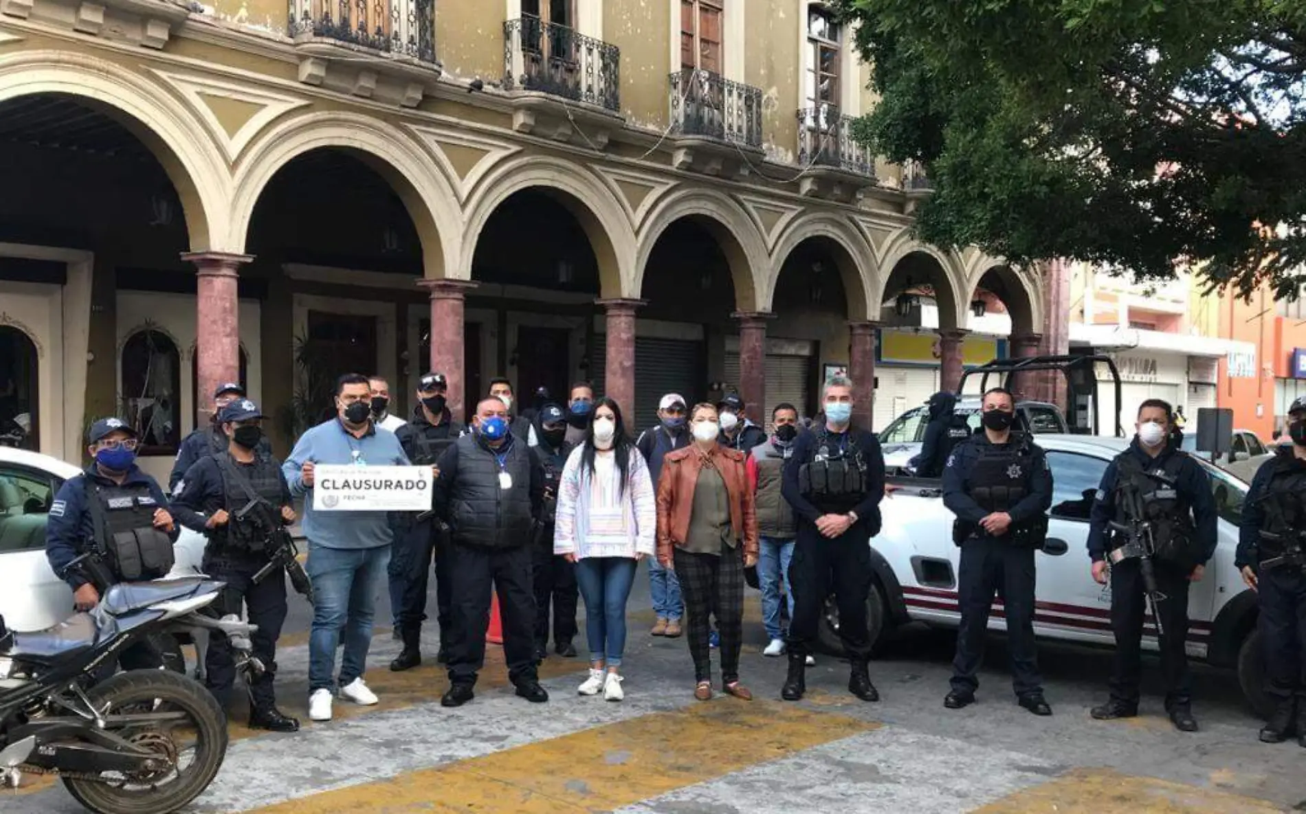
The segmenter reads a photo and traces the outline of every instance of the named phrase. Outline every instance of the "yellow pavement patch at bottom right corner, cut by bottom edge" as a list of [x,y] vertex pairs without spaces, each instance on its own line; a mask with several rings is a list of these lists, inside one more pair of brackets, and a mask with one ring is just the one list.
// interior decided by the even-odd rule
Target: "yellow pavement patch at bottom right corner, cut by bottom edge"
[[1135,777],[1109,768],[1076,768],[1042,785],[1008,794],[976,814],[1268,814],[1266,800]]

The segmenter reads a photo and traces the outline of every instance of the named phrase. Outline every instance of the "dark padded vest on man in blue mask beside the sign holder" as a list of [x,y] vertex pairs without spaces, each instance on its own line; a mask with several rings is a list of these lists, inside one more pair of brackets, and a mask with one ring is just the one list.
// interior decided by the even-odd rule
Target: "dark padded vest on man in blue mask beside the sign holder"
[[[530,447],[515,438],[499,457],[475,436],[457,440],[458,475],[449,496],[453,540],[464,545],[515,548],[530,543]],[[507,472],[512,487],[502,488]]]

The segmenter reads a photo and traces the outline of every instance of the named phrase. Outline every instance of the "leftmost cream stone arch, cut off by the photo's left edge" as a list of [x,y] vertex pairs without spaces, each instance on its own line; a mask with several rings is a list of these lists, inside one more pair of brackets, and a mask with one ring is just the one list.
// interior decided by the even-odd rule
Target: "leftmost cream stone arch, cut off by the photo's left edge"
[[202,121],[162,87],[120,65],[72,51],[0,57],[0,102],[34,94],[76,97],[123,125],[162,164],[176,189],[192,250],[226,243],[231,179]]

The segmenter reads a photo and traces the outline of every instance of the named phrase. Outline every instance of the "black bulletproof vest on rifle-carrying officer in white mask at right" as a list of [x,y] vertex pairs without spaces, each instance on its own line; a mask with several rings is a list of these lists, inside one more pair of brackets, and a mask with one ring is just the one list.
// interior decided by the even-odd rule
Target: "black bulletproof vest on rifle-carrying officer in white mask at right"
[[[1187,453],[1175,450],[1165,463],[1144,464],[1134,450],[1115,459],[1115,522],[1128,526],[1135,518],[1128,517],[1127,501],[1121,492],[1134,485],[1139,490],[1143,517],[1136,518],[1151,524],[1152,541],[1158,560],[1166,560],[1183,566],[1192,560],[1192,544],[1196,527],[1192,522],[1192,506],[1177,488],[1179,472],[1187,460]],[[1194,564],[1195,565],[1195,564]]]

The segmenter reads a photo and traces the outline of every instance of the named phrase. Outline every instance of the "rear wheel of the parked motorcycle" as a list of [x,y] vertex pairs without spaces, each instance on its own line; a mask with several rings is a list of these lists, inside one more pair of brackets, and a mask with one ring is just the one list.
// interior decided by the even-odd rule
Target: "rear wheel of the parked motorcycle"
[[[64,777],[68,793],[98,814],[168,814],[209,788],[227,753],[226,716],[197,681],[168,671],[132,671],[88,693],[106,717],[132,715],[108,729],[167,759],[150,774]],[[158,716],[150,720],[150,716]]]

